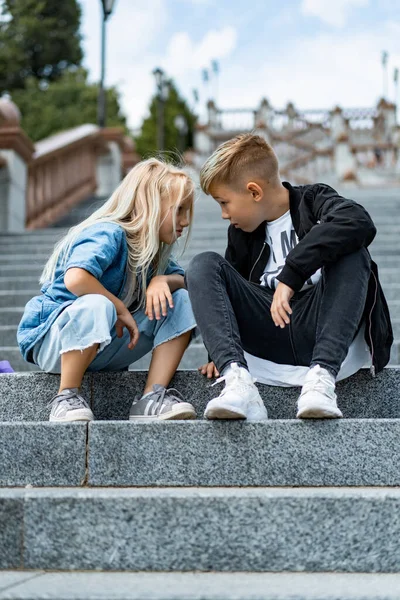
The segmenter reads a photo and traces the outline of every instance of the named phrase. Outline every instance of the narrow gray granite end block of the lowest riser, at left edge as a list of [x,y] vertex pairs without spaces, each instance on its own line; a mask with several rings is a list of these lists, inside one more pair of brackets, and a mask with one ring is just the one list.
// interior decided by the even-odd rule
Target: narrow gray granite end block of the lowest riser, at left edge
[[0,490],[0,569],[23,564],[23,498],[13,490]]

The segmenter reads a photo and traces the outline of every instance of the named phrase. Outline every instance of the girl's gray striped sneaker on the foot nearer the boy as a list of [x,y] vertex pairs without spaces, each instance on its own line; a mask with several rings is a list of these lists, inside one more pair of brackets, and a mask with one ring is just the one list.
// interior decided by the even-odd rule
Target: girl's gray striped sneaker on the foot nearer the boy
[[[176,394],[179,394],[178,397]],[[129,411],[130,421],[158,421],[168,419],[195,419],[196,411],[189,402],[184,402],[178,390],[167,390],[162,385],[153,385],[153,391],[144,398],[135,398]]]

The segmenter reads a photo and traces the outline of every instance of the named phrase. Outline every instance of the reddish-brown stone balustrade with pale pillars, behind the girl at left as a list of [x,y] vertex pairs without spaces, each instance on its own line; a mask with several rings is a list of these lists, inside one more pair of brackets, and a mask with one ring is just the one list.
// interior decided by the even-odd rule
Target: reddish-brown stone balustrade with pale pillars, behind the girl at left
[[121,128],[86,124],[35,145],[0,99],[0,231],[48,227],[91,194],[107,196],[139,157]]

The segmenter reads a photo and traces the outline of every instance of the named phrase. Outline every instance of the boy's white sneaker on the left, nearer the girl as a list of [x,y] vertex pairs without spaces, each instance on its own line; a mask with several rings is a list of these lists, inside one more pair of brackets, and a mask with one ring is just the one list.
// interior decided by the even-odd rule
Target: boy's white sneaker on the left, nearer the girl
[[254,385],[255,379],[237,363],[231,363],[223,377],[213,386],[225,381],[225,387],[218,396],[207,404],[204,416],[207,419],[247,419],[263,421],[268,419],[267,409]]

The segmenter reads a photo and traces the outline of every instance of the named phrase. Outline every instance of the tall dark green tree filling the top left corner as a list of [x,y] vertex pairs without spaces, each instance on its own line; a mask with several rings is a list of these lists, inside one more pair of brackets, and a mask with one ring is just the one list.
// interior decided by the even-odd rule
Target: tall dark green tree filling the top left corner
[[81,64],[77,0],[0,0],[0,93],[51,82]]

